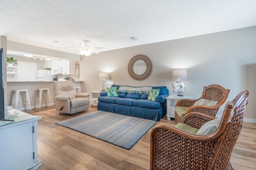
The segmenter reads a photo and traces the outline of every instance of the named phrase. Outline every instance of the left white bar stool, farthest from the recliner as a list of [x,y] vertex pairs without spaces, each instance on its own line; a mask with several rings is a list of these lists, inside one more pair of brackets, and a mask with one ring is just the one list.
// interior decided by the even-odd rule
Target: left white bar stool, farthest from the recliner
[[[18,103],[20,93],[22,93],[23,101],[21,103]],[[31,111],[30,101],[29,101],[29,96],[28,96],[28,89],[13,90],[12,102],[13,102],[13,100],[14,100],[14,103],[12,103],[12,105],[14,105],[15,109],[17,109],[17,106],[20,104],[24,104],[25,109],[27,109],[27,104],[28,104],[29,109]]]

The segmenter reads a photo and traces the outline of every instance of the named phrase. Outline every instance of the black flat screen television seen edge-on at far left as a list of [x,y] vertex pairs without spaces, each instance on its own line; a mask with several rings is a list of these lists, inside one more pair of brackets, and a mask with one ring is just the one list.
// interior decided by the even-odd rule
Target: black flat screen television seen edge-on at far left
[[2,76],[0,81],[0,120],[1,121],[12,121],[7,120],[4,117],[4,52],[3,48],[0,48],[0,74]]

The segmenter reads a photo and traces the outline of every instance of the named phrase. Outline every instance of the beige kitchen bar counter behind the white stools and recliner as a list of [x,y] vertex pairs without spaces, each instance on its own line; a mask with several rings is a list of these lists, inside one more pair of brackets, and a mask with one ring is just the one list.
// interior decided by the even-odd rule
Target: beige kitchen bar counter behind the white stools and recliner
[[[50,96],[51,96],[51,102],[52,105],[54,105],[54,90],[52,88],[52,83],[56,81],[30,81],[30,82],[14,82],[10,81],[7,82],[7,105],[11,106],[12,105],[12,95],[13,95],[13,90],[18,90],[18,89],[28,89],[28,95],[29,95],[29,100],[30,100],[30,106],[31,108],[34,108],[35,106],[35,99],[36,99],[36,89],[37,88],[49,88],[50,90]],[[72,81],[75,86],[84,86],[84,81]],[[83,88],[81,87],[81,90]],[[82,91],[83,92],[83,91]],[[19,103],[22,101],[22,95],[19,97]],[[42,107],[45,106],[44,102],[42,102]],[[50,107],[50,103],[47,105]],[[39,103],[36,102],[36,107],[39,107]],[[29,107],[27,106],[27,109]],[[18,110],[24,110],[24,105],[20,104],[18,105]]]

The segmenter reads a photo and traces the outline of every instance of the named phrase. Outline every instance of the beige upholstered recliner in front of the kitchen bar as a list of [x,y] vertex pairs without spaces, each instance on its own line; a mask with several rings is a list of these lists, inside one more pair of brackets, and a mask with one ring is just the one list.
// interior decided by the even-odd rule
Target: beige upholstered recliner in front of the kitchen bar
[[76,93],[70,81],[52,83],[55,94],[55,108],[60,113],[74,114],[89,108],[89,93]]

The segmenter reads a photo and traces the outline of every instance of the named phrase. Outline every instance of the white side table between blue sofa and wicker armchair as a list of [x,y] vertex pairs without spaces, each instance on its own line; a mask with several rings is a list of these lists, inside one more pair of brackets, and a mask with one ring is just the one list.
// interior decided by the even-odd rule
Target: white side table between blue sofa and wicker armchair
[[175,118],[175,104],[180,99],[192,99],[193,96],[177,96],[177,95],[170,95],[166,97],[167,100],[167,120],[171,120]]

